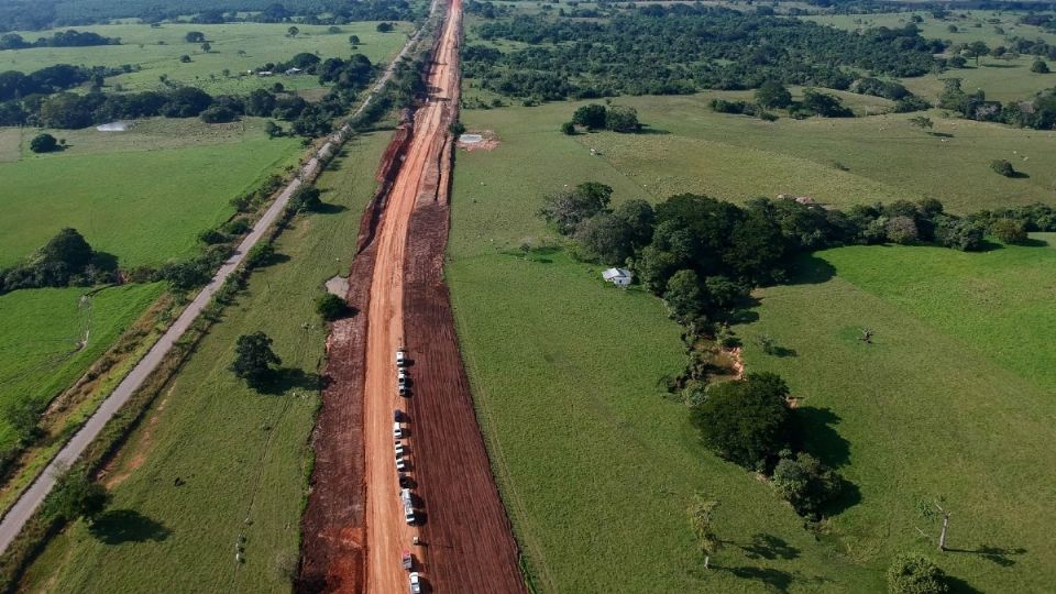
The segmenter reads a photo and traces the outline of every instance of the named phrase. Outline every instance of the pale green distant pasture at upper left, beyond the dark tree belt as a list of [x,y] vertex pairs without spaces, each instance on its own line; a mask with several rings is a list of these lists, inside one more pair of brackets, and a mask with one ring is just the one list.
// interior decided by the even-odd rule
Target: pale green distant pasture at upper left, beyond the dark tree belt
[[[139,65],[135,73],[110,77],[107,84],[120,85],[124,90],[161,90],[165,86],[158,79],[166,75],[173,82],[199,87],[217,94],[244,95],[258,88],[271,88],[282,82],[287,89],[311,89],[319,87],[319,79],[310,75],[257,77],[239,76],[249,69],[262,67],[268,62],[286,62],[294,55],[307,52],[322,59],[328,57],[348,58],[353,53],[362,53],[373,63],[385,63],[393,58],[406,42],[406,33],[411,31],[409,23],[398,23],[392,33],[378,33],[376,22],[356,22],[340,25],[341,33],[328,33],[323,25],[297,25],[300,33],[289,37],[286,30],[289,24],[272,23],[226,23],[226,24],[163,24],[152,29],[147,24],[86,25],[77,31],[92,31],[108,37],[120,37],[121,45],[94,47],[34,47],[0,52],[0,72],[21,70],[30,73],[54,64],[75,64],[85,66]],[[184,35],[188,31],[200,31],[211,44],[205,53],[200,44],[187,43]],[[29,41],[53,31],[21,32]],[[359,35],[362,42],[353,51],[349,35]],[[165,42],[160,45],[158,42]],[[240,54],[243,52],[244,54]],[[183,55],[190,63],[179,61]],[[230,76],[223,76],[223,70]],[[110,89],[113,90],[113,89]]]

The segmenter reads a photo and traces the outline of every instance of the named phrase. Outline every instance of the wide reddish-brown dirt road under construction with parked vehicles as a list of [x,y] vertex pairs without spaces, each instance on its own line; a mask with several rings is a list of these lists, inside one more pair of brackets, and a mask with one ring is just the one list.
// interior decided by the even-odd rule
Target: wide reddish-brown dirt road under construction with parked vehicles
[[[383,165],[383,190],[364,215],[349,293],[361,314],[334,327],[328,351],[330,385],[304,520],[302,591],[406,592],[405,550],[426,592],[526,591],[443,285],[461,16],[461,0],[452,0],[428,73],[429,99],[409,138],[398,131],[386,154],[398,170],[385,174]],[[376,229],[370,222],[375,208],[382,209]],[[396,389],[394,355],[404,345],[409,398]],[[399,498],[395,409],[407,417],[402,441],[414,482],[414,526]]]

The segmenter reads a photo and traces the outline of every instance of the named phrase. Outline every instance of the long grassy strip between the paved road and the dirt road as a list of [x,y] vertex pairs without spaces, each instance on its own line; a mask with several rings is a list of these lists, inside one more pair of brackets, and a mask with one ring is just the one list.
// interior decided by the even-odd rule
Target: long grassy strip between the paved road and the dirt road
[[[288,260],[253,274],[108,474],[114,501],[102,526],[77,524],[55,539],[33,565],[29,591],[289,591],[326,338],[314,299],[327,278],[348,271],[387,141],[385,133],[351,141],[322,175],[324,201],[344,210],[298,219],[283,233],[276,249]],[[227,370],[235,339],[256,330],[275,340],[290,370],[276,394],[249,391]],[[240,534],[244,564],[234,560]]]

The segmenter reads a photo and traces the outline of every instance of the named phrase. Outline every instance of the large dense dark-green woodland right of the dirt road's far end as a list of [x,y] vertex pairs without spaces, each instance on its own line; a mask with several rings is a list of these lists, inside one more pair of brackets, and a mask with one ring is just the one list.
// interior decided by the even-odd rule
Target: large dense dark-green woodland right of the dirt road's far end
[[941,41],[915,25],[839,31],[796,19],[671,4],[607,21],[547,14],[488,21],[485,40],[529,44],[502,52],[471,45],[466,76],[496,92],[538,100],[674,95],[756,88],[767,80],[847,89],[860,75],[919,76],[939,67]]

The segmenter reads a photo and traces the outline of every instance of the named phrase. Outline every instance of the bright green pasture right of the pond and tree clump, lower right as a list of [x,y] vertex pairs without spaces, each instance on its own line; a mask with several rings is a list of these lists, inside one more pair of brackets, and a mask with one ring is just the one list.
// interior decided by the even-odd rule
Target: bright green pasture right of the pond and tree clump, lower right
[[[758,292],[758,322],[738,329],[746,363],[780,373],[827,426],[807,447],[860,491],[829,522],[848,554],[916,550],[981,592],[1050,588],[1054,273],[1045,246],[856,246]],[[793,354],[762,354],[763,332]],[[916,508],[935,497],[952,513],[946,553],[916,530],[936,535]]]

